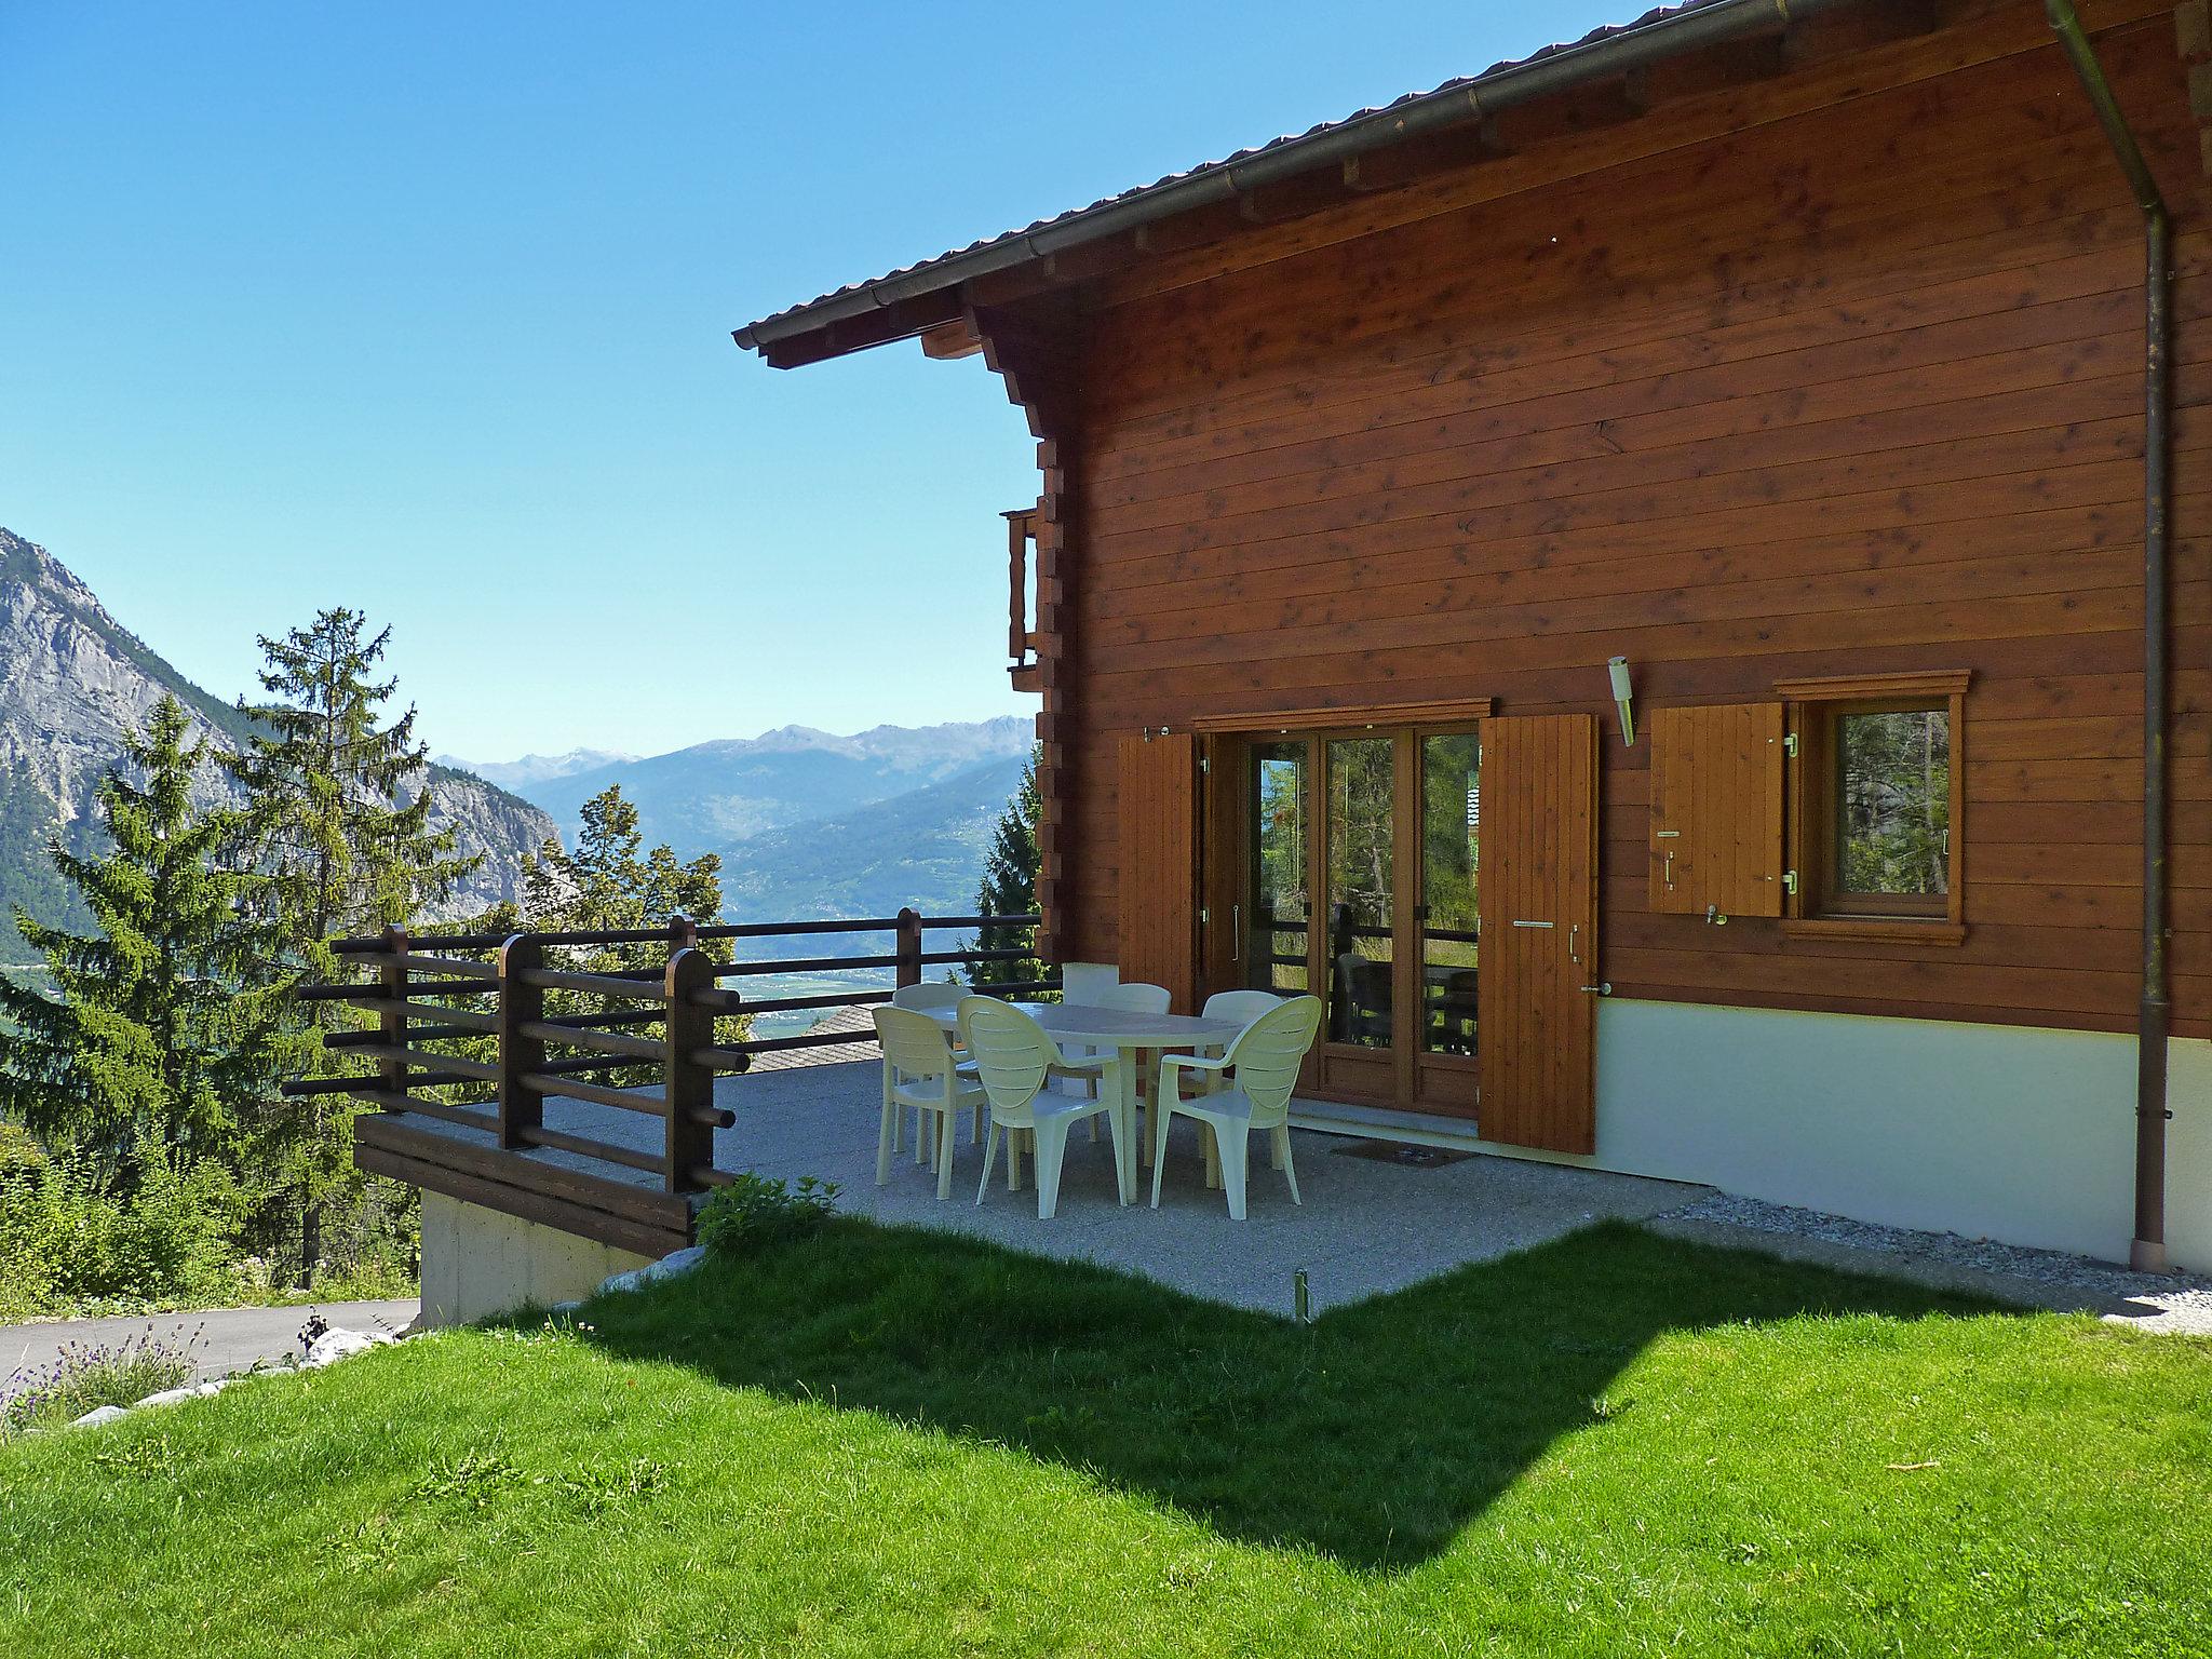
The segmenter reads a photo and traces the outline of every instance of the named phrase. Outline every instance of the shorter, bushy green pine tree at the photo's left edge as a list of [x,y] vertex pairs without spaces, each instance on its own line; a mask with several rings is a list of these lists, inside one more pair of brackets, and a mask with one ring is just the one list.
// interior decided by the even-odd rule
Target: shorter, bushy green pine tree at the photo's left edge
[[55,874],[82,896],[93,931],[15,927],[46,960],[55,995],[0,980],[0,1106],[49,1144],[93,1152],[126,1183],[139,1148],[197,1161],[230,1155],[241,1106],[265,1097],[285,1064],[290,984],[261,964],[257,874],[223,867],[230,812],[199,812],[192,776],[206,754],[164,697],[128,739],[128,768],[97,790],[111,849],[82,858],[49,845]]

